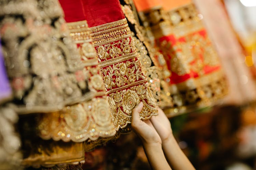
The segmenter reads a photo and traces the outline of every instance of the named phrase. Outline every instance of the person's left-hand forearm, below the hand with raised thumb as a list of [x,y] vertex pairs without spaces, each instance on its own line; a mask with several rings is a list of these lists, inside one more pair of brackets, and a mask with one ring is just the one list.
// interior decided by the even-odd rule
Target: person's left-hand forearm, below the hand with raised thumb
[[160,143],[143,143],[143,148],[153,170],[171,170]]

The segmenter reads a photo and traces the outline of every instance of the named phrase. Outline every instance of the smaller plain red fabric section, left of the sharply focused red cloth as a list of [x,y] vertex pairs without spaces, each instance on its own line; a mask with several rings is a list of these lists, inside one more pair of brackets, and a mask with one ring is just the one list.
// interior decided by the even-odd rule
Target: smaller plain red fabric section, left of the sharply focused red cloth
[[85,12],[82,0],[59,0],[64,11],[66,22],[85,20]]

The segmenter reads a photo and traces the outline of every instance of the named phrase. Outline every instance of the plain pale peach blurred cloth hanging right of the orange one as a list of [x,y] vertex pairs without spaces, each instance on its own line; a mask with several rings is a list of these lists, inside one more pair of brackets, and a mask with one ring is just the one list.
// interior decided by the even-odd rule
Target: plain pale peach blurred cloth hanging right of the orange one
[[227,75],[229,94],[224,103],[244,104],[255,101],[254,78],[244,63],[243,49],[230,24],[223,3],[220,0],[194,2],[203,15],[205,26],[216,44],[223,71]]

